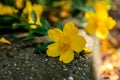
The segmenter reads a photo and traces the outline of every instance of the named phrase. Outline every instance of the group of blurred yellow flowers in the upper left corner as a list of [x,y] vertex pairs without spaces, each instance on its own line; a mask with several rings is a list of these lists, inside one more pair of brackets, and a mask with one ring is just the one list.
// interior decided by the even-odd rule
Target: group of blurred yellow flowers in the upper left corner
[[[16,13],[19,12],[19,9],[22,9],[24,7],[24,0],[15,0],[15,7],[5,5],[0,3],[0,15],[15,15]],[[35,12],[36,16],[35,19],[33,19],[32,12]],[[26,0],[25,7],[22,12],[22,16],[28,15],[28,23],[30,24],[37,24],[37,25],[42,25],[40,22],[40,16],[43,12],[43,6],[40,4],[33,4],[29,1]],[[17,14],[16,14],[17,15]],[[36,28],[35,25],[31,25],[30,28]]]

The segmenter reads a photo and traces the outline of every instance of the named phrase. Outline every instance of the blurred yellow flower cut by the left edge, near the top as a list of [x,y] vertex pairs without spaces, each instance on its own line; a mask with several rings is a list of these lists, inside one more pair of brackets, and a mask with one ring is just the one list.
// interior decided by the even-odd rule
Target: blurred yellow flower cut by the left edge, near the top
[[17,12],[18,10],[16,10],[14,7],[0,3],[0,15],[14,15]]

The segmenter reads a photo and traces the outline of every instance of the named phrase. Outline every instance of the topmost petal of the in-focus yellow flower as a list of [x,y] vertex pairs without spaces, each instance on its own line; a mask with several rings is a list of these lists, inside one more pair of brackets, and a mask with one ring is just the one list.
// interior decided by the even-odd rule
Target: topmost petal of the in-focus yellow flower
[[65,24],[63,32],[69,36],[74,36],[78,34],[78,29],[73,22],[68,22]]

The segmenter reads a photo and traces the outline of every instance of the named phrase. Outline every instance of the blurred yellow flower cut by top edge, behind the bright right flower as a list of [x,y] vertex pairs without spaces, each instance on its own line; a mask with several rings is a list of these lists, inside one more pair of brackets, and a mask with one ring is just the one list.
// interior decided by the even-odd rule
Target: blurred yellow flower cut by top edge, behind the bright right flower
[[93,6],[96,10],[110,10],[112,8],[110,0],[87,0],[88,4]]

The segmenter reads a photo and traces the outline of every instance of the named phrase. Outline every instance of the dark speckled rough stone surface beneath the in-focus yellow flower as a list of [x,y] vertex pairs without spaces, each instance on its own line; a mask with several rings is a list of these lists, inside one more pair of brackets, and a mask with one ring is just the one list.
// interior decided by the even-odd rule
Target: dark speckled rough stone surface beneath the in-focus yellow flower
[[34,40],[17,38],[21,33],[1,34],[12,42],[0,43],[0,80],[93,80],[92,61],[76,56],[64,64],[45,53],[34,54]]

